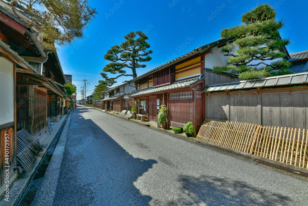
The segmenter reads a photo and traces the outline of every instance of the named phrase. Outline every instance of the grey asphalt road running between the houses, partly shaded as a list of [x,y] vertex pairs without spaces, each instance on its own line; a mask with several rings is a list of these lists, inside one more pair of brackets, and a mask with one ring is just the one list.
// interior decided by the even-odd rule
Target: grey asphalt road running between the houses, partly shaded
[[251,160],[77,107],[53,205],[308,205],[307,191]]

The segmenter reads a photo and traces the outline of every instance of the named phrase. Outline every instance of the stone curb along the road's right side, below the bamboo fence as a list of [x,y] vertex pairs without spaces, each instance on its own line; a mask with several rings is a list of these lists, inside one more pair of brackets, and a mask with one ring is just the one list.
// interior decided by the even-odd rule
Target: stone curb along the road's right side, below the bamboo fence
[[[114,116],[116,116],[116,115],[114,115]],[[120,116],[118,116],[118,117],[120,117]],[[121,117],[121,118],[125,119],[125,120],[130,120],[130,119],[123,118],[123,117]],[[139,123],[139,122],[136,122],[136,121],[133,121],[133,122],[141,124],[141,125],[145,125],[145,124],[142,124],[142,123]],[[234,149],[230,149],[228,147],[223,147],[223,146],[220,146],[220,145],[215,145],[215,144],[210,143],[210,142],[198,140],[195,137],[186,137],[186,135],[174,133],[172,130],[166,130],[166,129],[162,129],[162,128],[157,128],[157,127],[154,127],[152,125],[150,125],[150,128],[156,129],[156,130],[158,130],[160,132],[171,133],[171,134],[174,134],[176,136],[182,137],[184,139],[188,139],[188,140],[191,140],[191,141],[194,141],[194,142],[198,142],[200,144],[208,145],[208,146],[211,146],[211,147],[214,147],[214,148],[217,148],[217,149],[229,152],[229,153],[236,154],[236,155],[241,156],[241,157],[252,159],[253,161],[261,163],[261,164],[265,164],[265,165],[268,165],[268,166],[271,166],[271,167],[276,167],[276,168],[281,169],[281,170],[286,170],[286,171],[289,171],[289,172],[292,172],[292,173],[295,173],[295,174],[300,174],[302,176],[308,177],[308,170],[304,169],[304,168],[301,168],[301,167],[292,166],[292,165],[289,165],[289,164],[286,164],[286,163],[282,163],[282,162],[279,162],[279,161],[270,160],[270,159],[259,157],[259,156],[253,155],[253,154],[237,151],[237,150],[234,150]]]

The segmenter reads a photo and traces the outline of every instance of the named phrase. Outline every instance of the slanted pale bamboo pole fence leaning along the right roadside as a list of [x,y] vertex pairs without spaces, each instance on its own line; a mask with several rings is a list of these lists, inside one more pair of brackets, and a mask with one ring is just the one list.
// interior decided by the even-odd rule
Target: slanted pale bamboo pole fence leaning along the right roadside
[[308,131],[206,119],[197,139],[308,169]]

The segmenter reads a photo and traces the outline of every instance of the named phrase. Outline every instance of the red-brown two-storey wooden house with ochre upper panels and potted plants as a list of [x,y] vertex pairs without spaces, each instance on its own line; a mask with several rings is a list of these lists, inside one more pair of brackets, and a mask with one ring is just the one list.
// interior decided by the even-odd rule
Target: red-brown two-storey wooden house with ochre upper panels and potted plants
[[237,75],[213,73],[213,66],[226,64],[221,47],[232,41],[220,39],[194,49],[168,63],[132,79],[137,91],[129,97],[137,101],[137,113],[156,121],[160,105],[167,106],[168,125],[183,128],[192,122],[198,130],[205,120],[206,84],[238,80]]

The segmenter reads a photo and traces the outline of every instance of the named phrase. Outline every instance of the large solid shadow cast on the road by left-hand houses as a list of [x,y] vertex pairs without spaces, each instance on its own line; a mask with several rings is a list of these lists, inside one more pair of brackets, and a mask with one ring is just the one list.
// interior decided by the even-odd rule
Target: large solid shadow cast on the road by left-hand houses
[[[53,205],[149,205],[133,185],[155,160],[134,158],[74,110]],[[115,125],[115,130],[117,130]]]

